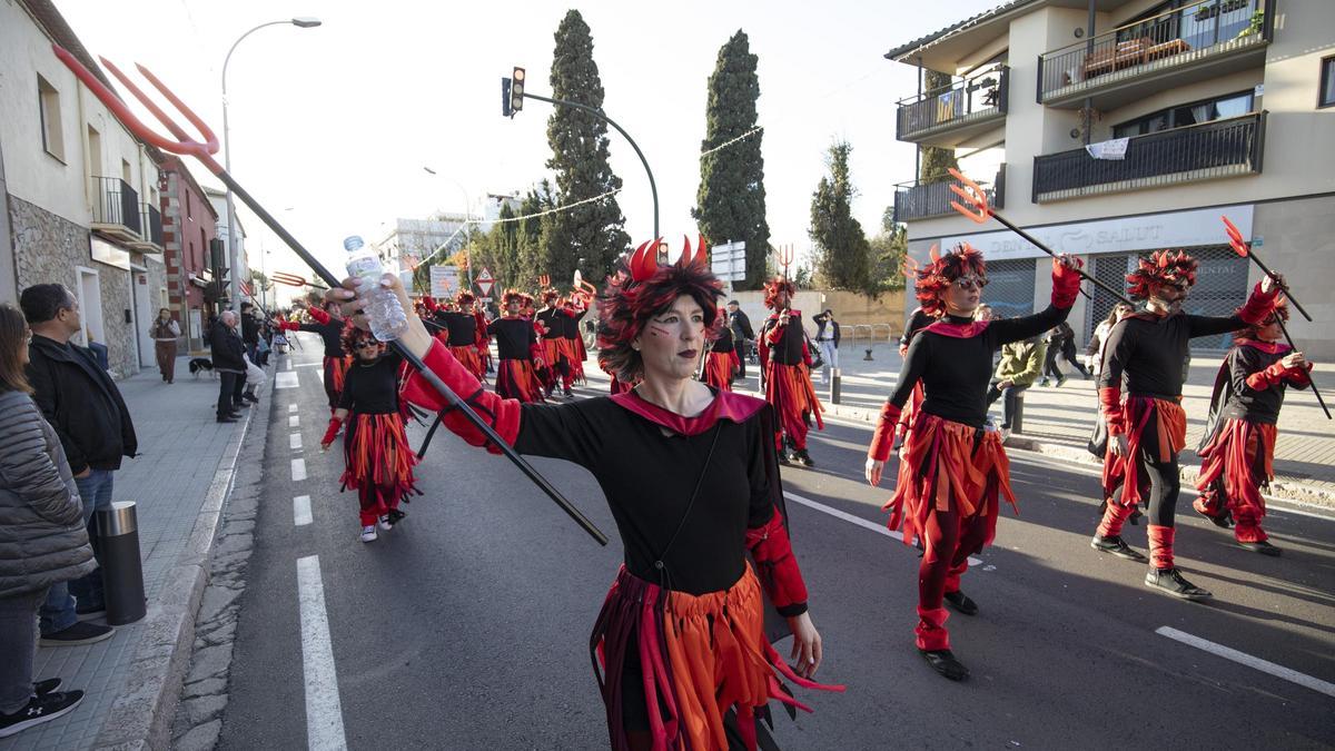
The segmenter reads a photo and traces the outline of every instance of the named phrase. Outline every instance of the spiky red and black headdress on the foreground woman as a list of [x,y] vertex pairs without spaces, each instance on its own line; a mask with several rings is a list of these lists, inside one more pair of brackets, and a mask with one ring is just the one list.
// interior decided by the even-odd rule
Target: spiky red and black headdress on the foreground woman
[[654,314],[672,307],[681,295],[696,299],[705,314],[705,337],[713,338],[722,294],[722,282],[709,270],[704,235],[694,253],[686,239],[677,263],[658,263],[657,239],[641,245],[607,277],[607,286],[598,295],[598,361],[603,370],[633,384],[641,359],[630,343]]

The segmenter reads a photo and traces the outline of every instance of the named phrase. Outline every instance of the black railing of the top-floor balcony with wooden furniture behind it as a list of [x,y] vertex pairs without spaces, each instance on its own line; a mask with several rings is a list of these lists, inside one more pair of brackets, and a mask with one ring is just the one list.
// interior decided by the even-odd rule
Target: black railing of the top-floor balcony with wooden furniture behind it
[[[1039,102],[1271,39],[1274,0],[1203,0],[1039,56]],[[1064,92],[1063,90],[1068,90]]]

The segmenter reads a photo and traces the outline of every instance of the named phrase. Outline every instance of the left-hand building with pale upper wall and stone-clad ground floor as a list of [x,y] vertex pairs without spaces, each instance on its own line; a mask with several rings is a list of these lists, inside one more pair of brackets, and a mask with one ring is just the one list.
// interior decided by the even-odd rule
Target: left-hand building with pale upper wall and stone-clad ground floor
[[166,305],[158,208],[163,155],[65,68],[52,43],[105,83],[48,0],[0,4],[8,224],[0,281],[7,299],[36,283],[69,287],[84,322],[75,341],[107,345],[109,369],[124,377],[154,362],[148,323]]

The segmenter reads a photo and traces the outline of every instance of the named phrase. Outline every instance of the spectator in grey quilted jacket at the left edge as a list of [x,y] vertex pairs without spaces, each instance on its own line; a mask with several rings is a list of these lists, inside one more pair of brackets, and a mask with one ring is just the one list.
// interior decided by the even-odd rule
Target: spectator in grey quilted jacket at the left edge
[[56,692],[59,678],[33,683],[36,621],[52,584],[96,567],[65,452],[29,396],[29,335],[23,315],[0,305],[0,738],[83,700],[83,691]]

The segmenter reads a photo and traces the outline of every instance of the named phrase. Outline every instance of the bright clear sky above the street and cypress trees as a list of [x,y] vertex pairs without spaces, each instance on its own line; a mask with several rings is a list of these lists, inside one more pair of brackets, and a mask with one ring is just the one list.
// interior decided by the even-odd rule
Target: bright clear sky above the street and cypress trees
[[[760,56],[760,124],[772,242],[801,255],[810,194],[833,139],[853,144],[854,214],[868,233],[893,184],[913,178],[913,147],[894,140],[894,102],[916,92],[913,68],[885,60],[909,41],[996,0],[498,1],[56,0],[96,56],[156,72],[222,136],[220,73],[228,47],[270,20],[315,16],[251,35],[228,68],[232,174],[331,267],[342,238],[375,239],[395,216],[462,211],[465,192],[525,190],[547,175],[549,106],[501,116],[502,76],[529,69],[550,94],[553,33],[578,7],[594,39],[605,110],[639,143],[658,183],[668,237],[696,226],[706,80],[738,28]],[[649,184],[634,151],[611,134],[626,230],[649,239]],[[430,166],[438,172],[423,171]],[[202,167],[206,184],[216,183]],[[295,255],[242,214],[266,270],[303,275]]]

